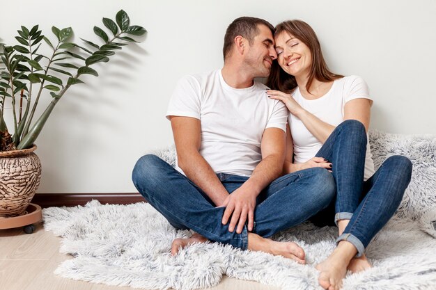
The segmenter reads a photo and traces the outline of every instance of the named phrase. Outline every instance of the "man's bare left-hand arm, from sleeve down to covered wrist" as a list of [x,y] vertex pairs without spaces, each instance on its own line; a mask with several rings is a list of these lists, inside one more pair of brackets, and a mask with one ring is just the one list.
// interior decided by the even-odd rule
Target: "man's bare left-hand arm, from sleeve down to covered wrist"
[[178,116],[171,116],[170,120],[174,143],[176,143],[178,166],[216,206],[222,206],[228,197],[228,192],[209,163],[198,152],[201,145],[200,120]]

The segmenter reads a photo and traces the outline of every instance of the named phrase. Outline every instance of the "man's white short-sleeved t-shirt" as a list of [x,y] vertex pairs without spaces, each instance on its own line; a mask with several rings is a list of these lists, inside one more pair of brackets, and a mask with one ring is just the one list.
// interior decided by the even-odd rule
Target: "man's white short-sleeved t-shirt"
[[[188,75],[178,82],[166,118],[173,115],[200,120],[199,153],[212,170],[250,176],[262,160],[263,131],[272,127],[286,131],[286,106],[270,99],[266,90],[267,86],[257,81],[249,88],[232,88],[221,70]],[[176,169],[182,172],[178,166]]]

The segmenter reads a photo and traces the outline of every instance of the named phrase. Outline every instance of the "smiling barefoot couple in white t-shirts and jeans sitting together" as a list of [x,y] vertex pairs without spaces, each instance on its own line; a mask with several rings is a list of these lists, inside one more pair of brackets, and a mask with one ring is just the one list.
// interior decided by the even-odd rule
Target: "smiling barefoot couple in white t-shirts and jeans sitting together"
[[309,219],[336,223],[336,248],[316,268],[323,288],[340,289],[347,269],[371,267],[364,250],[398,208],[412,164],[391,156],[374,172],[366,83],[330,72],[305,22],[274,29],[240,17],[223,53],[221,70],[185,76],[173,92],[176,168],[146,155],[133,182],[171,225],[195,232],[173,241],[173,255],[209,240],[304,264],[299,245],[268,237]]

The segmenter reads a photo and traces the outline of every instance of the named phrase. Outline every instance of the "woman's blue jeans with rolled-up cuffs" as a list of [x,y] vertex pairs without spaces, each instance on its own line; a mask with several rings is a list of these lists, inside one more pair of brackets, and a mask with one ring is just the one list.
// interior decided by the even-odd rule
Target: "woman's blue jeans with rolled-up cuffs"
[[[405,156],[390,156],[364,182],[366,132],[361,122],[346,120],[334,129],[316,156],[333,164],[336,182],[334,221],[350,220],[336,242],[349,241],[363,255],[368,243],[398,209],[412,176],[412,162]],[[326,214],[316,218],[332,218]],[[330,210],[331,212],[331,210]]]

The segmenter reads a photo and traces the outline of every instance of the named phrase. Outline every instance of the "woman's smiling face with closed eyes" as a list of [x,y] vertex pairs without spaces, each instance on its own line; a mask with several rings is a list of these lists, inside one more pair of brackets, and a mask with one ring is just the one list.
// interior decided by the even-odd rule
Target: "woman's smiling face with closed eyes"
[[277,61],[280,67],[295,77],[309,75],[311,50],[301,40],[283,31],[275,36]]

